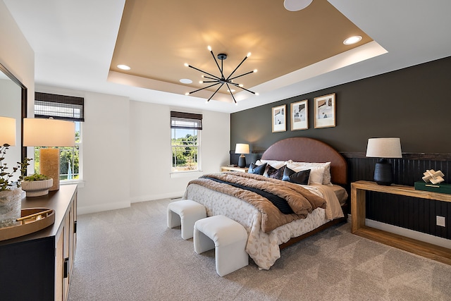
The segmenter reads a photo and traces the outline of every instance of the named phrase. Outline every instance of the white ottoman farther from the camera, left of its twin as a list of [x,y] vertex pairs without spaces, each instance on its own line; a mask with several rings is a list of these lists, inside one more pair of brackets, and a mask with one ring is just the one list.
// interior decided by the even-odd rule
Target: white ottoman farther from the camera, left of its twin
[[192,238],[194,223],[204,218],[206,218],[205,207],[191,199],[168,204],[168,228],[181,225],[181,235],[184,240]]

